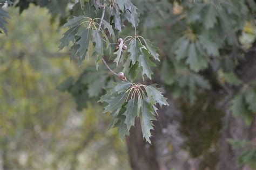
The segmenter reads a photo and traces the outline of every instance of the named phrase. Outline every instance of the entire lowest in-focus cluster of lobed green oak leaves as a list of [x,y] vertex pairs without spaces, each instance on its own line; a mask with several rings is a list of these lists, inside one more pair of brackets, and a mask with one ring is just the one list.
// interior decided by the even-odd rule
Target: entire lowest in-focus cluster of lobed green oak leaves
[[100,97],[99,102],[105,102],[103,112],[110,112],[113,121],[110,128],[118,128],[120,138],[129,135],[131,126],[134,126],[136,117],[140,118],[143,137],[149,142],[150,130],[153,129],[153,120],[156,120],[157,103],[162,107],[169,105],[156,85],[144,86],[129,81],[115,82],[113,87],[106,88],[106,94]]

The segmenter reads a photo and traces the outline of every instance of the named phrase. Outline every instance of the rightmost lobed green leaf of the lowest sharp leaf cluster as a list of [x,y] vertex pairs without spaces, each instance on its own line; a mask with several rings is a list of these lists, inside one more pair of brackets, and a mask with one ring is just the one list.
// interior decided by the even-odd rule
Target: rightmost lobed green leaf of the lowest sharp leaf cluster
[[156,88],[156,84],[151,86],[145,86],[147,97],[149,97],[150,104],[154,105],[159,103],[160,107],[163,105],[169,105],[166,100],[167,98],[162,95],[162,93]]

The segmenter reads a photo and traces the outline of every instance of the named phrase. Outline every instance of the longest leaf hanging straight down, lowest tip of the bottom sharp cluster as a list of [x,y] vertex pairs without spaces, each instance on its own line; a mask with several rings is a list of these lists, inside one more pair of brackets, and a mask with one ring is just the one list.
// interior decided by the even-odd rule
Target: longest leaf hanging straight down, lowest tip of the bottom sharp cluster
[[152,120],[155,120],[153,116],[154,110],[149,103],[143,101],[142,105],[142,114],[140,115],[140,125],[142,126],[142,134],[143,137],[146,139],[147,142],[151,144],[150,137],[151,133],[150,130],[153,129]]

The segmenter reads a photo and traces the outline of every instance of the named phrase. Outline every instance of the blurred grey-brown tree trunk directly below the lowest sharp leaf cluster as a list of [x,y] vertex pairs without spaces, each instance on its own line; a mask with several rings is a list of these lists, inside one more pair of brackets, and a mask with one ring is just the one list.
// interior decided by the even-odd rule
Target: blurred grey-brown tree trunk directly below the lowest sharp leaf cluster
[[130,164],[133,170],[176,170],[188,169],[187,152],[180,149],[183,143],[179,128],[180,111],[174,108],[174,101],[168,96],[170,107],[164,107],[154,122],[152,145],[146,143],[142,136],[139,119],[126,138]]

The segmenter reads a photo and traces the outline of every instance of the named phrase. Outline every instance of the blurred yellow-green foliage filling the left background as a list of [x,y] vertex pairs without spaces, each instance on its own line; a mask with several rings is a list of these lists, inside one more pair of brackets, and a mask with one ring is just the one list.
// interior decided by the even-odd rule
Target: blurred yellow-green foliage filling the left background
[[[83,71],[58,52],[62,30],[47,9],[10,8],[0,34],[0,169],[129,169],[125,143],[97,102],[77,111],[57,89]],[[93,62],[94,63],[94,62]],[[86,102],[86,101],[84,101]]]

